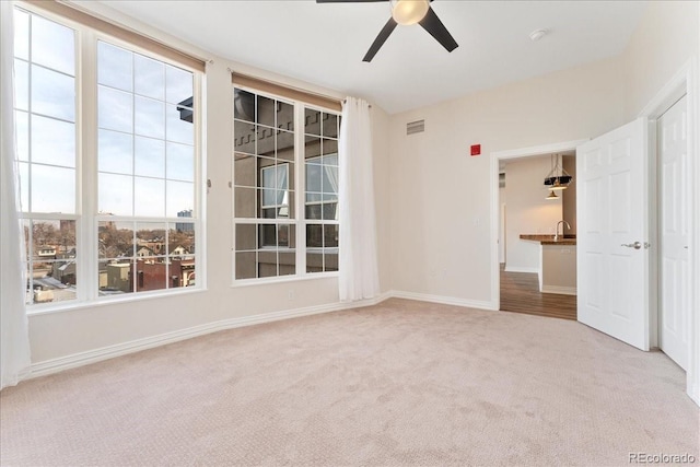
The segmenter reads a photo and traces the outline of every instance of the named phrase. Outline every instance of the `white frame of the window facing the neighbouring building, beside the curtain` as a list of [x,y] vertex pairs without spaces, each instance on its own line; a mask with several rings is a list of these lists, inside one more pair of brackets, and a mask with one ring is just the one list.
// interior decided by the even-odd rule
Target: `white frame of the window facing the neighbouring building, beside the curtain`
[[[307,247],[306,247],[306,225],[307,224],[325,224],[325,223],[329,223],[329,224],[337,224],[340,225],[339,221],[324,221],[324,220],[307,220],[306,219],[306,165],[305,165],[305,160],[304,160],[304,141],[305,141],[305,133],[304,133],[304,120],[305,120],[305,113],[304,110],[306,108],[308,109],[313,109],[313,110],[319,110],[319,112],[324,112],[326,114],[334,114],[337,115],[338,118],[340,118],[340,112],[328,108],[328,107],[324,107],[324,106],[319,106],[319,105],[314,105],[314,104],[310,104],[307,102],[301,101],[301,100],[294,100],[294,98],[290,98],[290,97],[285,97],[276,93],[271,93],[271,92],[267,92],[267,91],[259,91],[255,87],[250,87],[250,86],[246,86],[246,85],[240,85],[240,84],[232,84],[232,97],[231,97],[231,120],[233,122],[233,125],[235,125],[235,119],[233,118],[233,109],[234,109],[234,95],[235,93],[233,92],[234,89],[240,89],[242,91],[247,91],[249,93],[256,94],[256,95],[260,95],[264,97],[269,97],[269,98],[273,98],[277,101],[282,101],[289,104],[292,104],[294,106],[294,213],[295,217],[293,219],[291,218],[282,218],[282,219],[261,219],[261,218],[236,218],[235,217],[235,149],[232,148],[232,154],[231,154],[231,199],[232,199],[232,212],[231,212],[231,218],[233,219],[233,227],[232,227],[232,233],[231,233],[231,238],[232,238],[232,243],[231,243],[231,287],[232,288],[237,288],[237,287],[247,287],[247,285],[257,285],[257,284],[270,284],[270,283],[280,283],[280,282],[293,282],[293,281],[299,281],[299,280],[311,280],[311,279],[323,279],[323,278],[334,278],[334,277],[338,277],[338,271],[323,271],[323,272],[306,272],[306,252],[307,252]],[[319,136],[320,138],[320,136]],[[338,140],[340,138],[340,133],[338,132]],[[288,176],[291,176],[291,173],[288,171]],[[288,187],[289,187],[289,180],[288,180]],[[340,199],[338,199],[338,202],[340,202]],[[291,203],[290,203],[291,207]],[[296,273],[295,275],[288,275],[288,276],[276,276],[276,277],[267,277],[267,278],[249,278],[249,279],[236,279],[236,225],[237,224],[289,224],[290,226],[294,226],[295,229],[295,247],[294,248],[289,248],[289,249],[294,249],[295,250],[295,262],[296,262]],[[257,249],[264,249],[261,246],[258,246]],[[282,250],[282,248],[278,248],[280,250]],[[313,247],[311,247],[311,249],[315,249]],[[323,248],[319,248],[320,250],[323,250]],[[257,265],[256,265],[257,267]]]

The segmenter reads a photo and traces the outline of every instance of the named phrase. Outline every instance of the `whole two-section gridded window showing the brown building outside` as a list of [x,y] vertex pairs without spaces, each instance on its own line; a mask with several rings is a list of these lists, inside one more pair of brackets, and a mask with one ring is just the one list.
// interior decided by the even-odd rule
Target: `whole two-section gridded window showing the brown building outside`
[[233,114],[234,280],[337,271],[339,116],[238,86]]

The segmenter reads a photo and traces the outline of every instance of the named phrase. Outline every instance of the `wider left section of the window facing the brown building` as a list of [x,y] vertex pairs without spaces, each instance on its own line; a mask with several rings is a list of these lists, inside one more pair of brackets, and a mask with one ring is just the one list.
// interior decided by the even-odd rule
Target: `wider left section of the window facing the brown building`
[[234,92],[235,278],[296,273],[294,105]]

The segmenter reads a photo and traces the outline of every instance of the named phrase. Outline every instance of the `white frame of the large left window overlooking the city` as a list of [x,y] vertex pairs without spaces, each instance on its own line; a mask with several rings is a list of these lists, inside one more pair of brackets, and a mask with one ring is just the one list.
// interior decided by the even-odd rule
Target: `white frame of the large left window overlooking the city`
[[[74,220],[75,221],[75,261],[77,270],[77,296],[75,300],[49,303],[35,303],[26,307],[27,315],[45,314],[77,308],[94,307],[121,302],[132,302],[175,294],[196,293],[207,289],[207,265],[205,264],[205,237],[206,237],[206,199],[203,187],[206,186],[206,160],[203,152],[203,114],[205,100],[202,98],[203,73],[180,62],[173,61],[159,54],[129,42],[113,37],[96,31],[88,25],[69,17],[56,14],[31,3],[18,2],[15,8],[31,15],[45,17],[46,20],[70,27],[75,32],[75,214],[44,214],[22,212],[22,219],[40,220]],[[98,294],[98,222],[100,221],[128,221],[137,223],[159,222],[167,224],[182,223],[183,218],[137,218],[137,217],[101,217],[97,212],[97,43],[98,40],[113,44],[129,51],[141,54],[164,63],[190,71],[192,82],[192,108],[194,113],[194,148],[195,172],[194,189],[195,199],[191,220],[195,226],[195,258],[196,284],[192,287],[171,288],[155,291],[129,292],[117,295],[101,296]],[[136,254],[135,254],[136,255]],[[31,258],[27,258],[31,260]]]

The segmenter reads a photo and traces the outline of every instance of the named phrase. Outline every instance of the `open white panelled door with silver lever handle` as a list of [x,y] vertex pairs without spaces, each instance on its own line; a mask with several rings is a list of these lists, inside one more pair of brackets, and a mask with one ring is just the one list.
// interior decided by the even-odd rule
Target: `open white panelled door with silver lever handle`
[[579,320],[649,350],[648,124],[576,149]]

